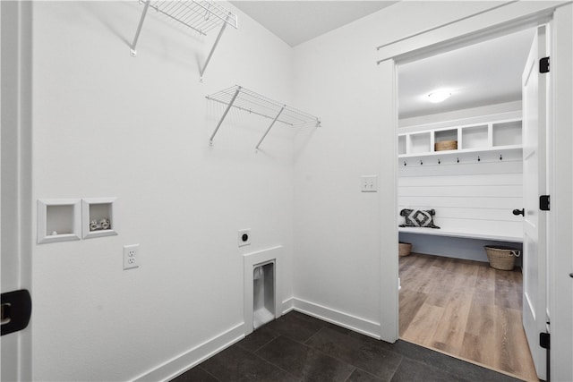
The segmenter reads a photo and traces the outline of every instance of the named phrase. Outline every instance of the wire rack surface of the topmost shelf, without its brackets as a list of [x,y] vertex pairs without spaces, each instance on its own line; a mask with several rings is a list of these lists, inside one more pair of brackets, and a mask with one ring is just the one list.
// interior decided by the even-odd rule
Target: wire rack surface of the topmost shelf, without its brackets
[[150,7],[201,35],[207,35],[223,23],[234,28],[238,26],[236,15],[214,1],[152,1]]

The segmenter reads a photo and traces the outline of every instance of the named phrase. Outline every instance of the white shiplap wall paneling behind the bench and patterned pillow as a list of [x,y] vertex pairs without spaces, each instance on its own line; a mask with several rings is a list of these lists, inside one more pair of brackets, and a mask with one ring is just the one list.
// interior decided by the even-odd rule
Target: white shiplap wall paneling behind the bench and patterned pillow
[[400,168],[398,211],[433,208],[444,231],[520,236],[523,217],[512,211],[522,207],[520,161]]

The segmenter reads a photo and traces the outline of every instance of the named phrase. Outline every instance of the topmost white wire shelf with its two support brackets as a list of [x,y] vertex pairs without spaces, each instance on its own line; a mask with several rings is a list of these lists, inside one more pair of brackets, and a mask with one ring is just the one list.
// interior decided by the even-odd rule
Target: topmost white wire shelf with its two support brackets
[[135,47],[137,46],[137,40],[140,38],[141,27],[143,26],[143,21],[148,13],[149,8],[155,9],[158,13],[166,15],[171,20],[177,21],[184,26],[195,30],[201,35],[207,35],[210,30],[218,28],[218,36],[210,49],[210,53],[202,64],[199,74],[201,78],[203,73],[210,62],[211,56],[218,45],[218,42],[223,36],[223,32],[227,25],[231,25],[235,29],[238,28],[237,17],[234,13],[227,11],[225,7],[220,4],[215,3],[212,0],[175,0],[175,1],[163,1],[163,0],[140,0],[143,5],[143,11],[141,12],[141,19],[135,31],[135,37],[133,38],[133,44],[131,46],[132,55],[137,55]]

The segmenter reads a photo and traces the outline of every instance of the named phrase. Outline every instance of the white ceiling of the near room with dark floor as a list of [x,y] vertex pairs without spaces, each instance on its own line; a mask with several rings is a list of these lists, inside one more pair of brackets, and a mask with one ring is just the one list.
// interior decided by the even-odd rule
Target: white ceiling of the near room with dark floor
[[[381,10],[396,1],[244,1],[231,4],[295,47]],[[328,17],[327,17],[328,16]]]

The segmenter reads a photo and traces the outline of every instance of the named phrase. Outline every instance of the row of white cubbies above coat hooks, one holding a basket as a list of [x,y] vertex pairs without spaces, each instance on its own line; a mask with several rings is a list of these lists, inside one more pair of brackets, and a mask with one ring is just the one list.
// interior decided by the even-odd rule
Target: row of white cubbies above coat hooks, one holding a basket
[[[436,151],[435,143],[444,140],[457,140],[458,149]],[[398,158],[503,153],[522,148],[520,118],[398,133]]]

